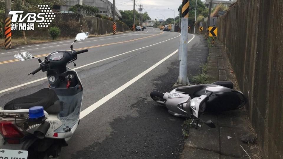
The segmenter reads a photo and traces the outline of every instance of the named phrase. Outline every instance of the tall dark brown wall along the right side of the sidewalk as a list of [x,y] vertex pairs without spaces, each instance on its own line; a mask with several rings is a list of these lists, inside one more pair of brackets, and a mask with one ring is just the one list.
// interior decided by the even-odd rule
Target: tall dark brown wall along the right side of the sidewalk
[[218,19],[264,158],[283,158],[282,37],[282,0],[239,0]]

